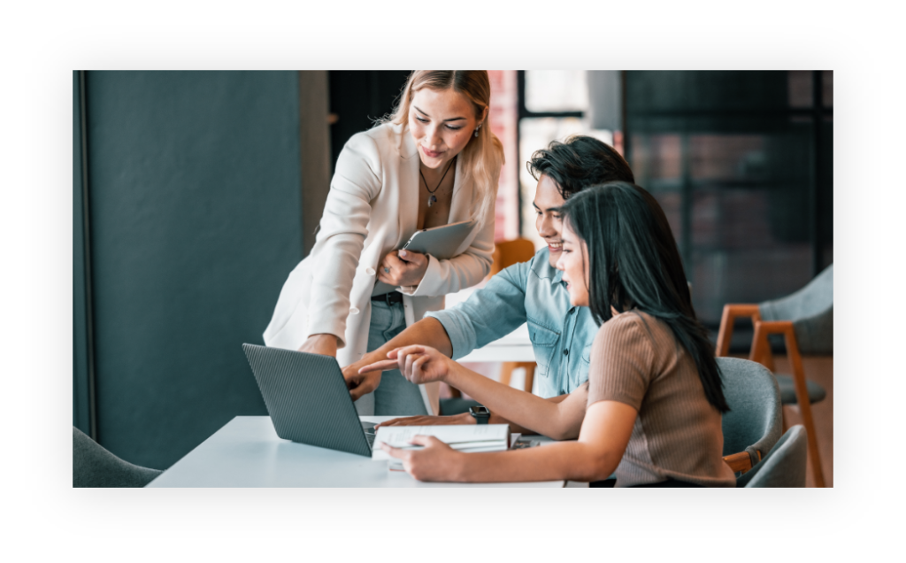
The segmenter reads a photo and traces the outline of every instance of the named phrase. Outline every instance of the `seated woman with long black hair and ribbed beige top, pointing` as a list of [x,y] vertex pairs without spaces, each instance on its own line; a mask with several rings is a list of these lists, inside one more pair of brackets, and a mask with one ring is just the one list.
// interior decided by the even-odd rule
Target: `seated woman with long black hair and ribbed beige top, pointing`
[[699,324],[676,241],[644,189],[609,182],[561,209],[570,301],[601,323],[589,384],[550,403],[470,372],[428,346],[407,346],[363,370],[399,368],[414,383],[446,381],[506,419],[577,442],[461,453],[431,437],[417,451],[382,447],[419,480],[598,481],[617,487],[733,487],[721,458],[728,411],[713,346]]

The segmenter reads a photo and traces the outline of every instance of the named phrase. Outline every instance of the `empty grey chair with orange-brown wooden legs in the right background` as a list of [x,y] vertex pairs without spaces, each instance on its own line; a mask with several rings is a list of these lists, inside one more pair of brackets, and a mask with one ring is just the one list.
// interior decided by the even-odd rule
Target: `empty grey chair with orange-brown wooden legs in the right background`
[[805,377],[801,354],[834,354],[834,265],[827,267],[807,286],[775,301],[758,306],[728,305],[720,321],[718,355],[727,355],[737,317],[750,316],[755,325],[752,351],[749,359],[767,366],[772,372],[774,356],[768,342],[769,335],[784,335],[786,354],[793,374],[776,375],[783,404],[795,404],[802,413],[805,432],[808,433],[808,450],[812,456],[812,471],[816,487],[824,487],[821,455],[814,432],[812,403],[824,400],[824,387]]

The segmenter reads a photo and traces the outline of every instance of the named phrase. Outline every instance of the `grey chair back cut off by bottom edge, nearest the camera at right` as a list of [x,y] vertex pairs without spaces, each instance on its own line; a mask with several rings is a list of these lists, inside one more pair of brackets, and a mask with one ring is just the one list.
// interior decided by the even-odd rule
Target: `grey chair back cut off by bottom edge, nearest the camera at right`
[[767,457],[737,479],[737,489],[803,489],[808,457],[805,428],[790,428]]

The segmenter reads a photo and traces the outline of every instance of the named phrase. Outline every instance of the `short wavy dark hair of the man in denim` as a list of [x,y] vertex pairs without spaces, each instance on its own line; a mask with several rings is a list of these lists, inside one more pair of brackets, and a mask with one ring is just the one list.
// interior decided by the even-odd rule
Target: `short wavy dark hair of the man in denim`
[[584,135],[573,135],[565,142],[551,141],[546,149],[535,150],[526,167],[535,180],[542,174],[554,180],[563,199],[612,180],[635,182],[629,164],[619,152],[605,142]]

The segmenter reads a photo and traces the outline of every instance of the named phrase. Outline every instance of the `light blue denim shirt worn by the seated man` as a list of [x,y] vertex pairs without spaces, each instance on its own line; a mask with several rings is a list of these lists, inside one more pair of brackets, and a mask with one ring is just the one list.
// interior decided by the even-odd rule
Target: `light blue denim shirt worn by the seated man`
[[569,303],[563,272],[551,267],[543,248],[528,262],[514,264],[487,286],[451,309],[433,311],[444,325],[457,360],[528,323],[535,349],[535,379],[542,397],[572,393],[588,380],[598,325],[588,307]]

